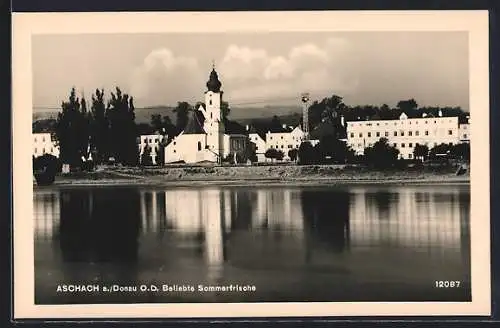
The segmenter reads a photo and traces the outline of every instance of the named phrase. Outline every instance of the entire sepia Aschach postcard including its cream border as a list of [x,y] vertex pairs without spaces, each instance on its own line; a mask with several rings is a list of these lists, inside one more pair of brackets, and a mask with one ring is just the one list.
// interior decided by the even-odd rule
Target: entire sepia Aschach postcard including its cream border
[[487,13],[13,24],[21,317],[489,314]]

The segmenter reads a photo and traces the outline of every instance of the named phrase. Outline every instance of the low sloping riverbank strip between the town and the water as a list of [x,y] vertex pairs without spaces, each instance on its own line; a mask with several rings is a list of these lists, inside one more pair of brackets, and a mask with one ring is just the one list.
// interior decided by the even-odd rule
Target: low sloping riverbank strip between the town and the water
[[160,168],[106,167],[56,177],[53,186],[193,186],[321,184],[467,184],[468,173],[455,167],[374,170],[345,165],[190,166]]

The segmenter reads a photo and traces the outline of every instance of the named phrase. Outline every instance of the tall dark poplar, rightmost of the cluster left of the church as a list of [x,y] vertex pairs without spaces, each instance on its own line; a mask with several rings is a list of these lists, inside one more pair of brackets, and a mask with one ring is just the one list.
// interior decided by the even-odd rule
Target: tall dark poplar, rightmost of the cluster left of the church
[[123,94],[120,88],[111,93],[107,114],[110,121],[110,152],[123,165],[136,165],[137,127],[133,98]]

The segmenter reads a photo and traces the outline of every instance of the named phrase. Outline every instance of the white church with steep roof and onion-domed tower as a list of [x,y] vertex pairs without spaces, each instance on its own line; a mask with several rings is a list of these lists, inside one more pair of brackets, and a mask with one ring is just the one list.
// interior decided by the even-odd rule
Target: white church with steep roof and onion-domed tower
[[222,163],[249,147],[245,128],[222,115],[222,83],[215,67],[206,86],[205,103],[191,113],[184,130],[165,146],[165,164]]

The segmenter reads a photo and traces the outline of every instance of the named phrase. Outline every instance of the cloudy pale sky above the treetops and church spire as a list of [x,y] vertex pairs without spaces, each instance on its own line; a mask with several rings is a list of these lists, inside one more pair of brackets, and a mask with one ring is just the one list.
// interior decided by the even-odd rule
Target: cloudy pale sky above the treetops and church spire
[[119,86],[136,107],[203,101],[213,63],[235,107],[299,105],[309,92],[469,108],[466,32],[273,32],[36,35],[34,110],[58,108],[73,86],[86,98]]

